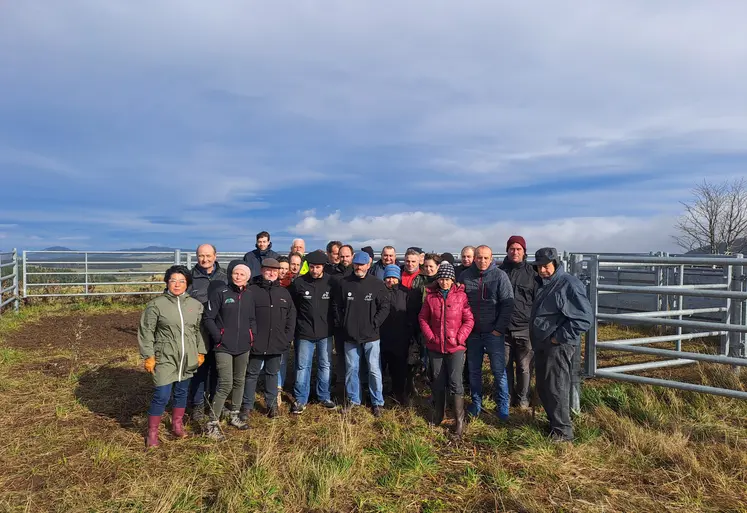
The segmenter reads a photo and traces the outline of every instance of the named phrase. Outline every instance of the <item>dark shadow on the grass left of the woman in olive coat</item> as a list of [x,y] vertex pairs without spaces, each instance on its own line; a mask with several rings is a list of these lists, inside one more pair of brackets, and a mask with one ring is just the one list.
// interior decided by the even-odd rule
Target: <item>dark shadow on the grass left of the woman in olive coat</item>
[[153,378],[138,369],[104,365],[78,378],[75,397],[97,415],[116,420],[124,428],[137,428],[153,391]]

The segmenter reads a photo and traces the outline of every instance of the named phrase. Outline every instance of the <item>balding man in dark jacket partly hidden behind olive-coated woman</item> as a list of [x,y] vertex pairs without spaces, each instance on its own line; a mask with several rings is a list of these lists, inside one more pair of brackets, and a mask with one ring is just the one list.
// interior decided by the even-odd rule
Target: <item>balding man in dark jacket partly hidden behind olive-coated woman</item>
[[[197,247],[197,264],[192,269],[192,285],[187,292],[202,303],[205,315],[208,313],[208,298],[216,290],[226,286],[226,272],[218,263],[218,255],[212,244],[201,244]],[[203,332],[205,341],[210,340],[208,333]],[[205,418],[205,396],[212,402],[218,386],[218,372],[215,367],[215,352],[208,344],[205,363],[200,365],[189,383],[189,402],[192,405],[192,420],[200,422]]]

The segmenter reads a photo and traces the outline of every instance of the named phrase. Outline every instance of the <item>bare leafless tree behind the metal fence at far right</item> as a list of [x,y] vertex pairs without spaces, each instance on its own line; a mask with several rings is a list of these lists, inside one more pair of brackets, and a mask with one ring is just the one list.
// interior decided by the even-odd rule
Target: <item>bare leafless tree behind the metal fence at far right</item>
[[682,202],[685,212],[677,220],[674,236],[688,251],[712,254],[739,252],[747,246],[747,182],[744,178],[719,184],[703,180],[693,191],[691,202]]

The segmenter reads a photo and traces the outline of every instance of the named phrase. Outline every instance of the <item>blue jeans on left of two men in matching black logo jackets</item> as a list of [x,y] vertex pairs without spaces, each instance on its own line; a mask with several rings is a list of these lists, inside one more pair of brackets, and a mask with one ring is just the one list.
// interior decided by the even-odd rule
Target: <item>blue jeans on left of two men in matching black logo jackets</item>
[[311,388],[311,367],[314,364],[314,351],[318,349],[318,368],[316,373],[316,397],[320,401],[329,401],[329,375],[332,362],[332,337],[319,340],[296,340],[296,384],[293,396],[299,404],[309,402]]

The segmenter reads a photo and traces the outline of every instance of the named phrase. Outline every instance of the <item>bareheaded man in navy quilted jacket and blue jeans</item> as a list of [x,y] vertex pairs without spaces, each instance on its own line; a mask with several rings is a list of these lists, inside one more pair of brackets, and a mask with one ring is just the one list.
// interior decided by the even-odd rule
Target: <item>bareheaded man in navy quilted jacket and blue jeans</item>
[[495,381],[496,413],[508,418],[508,382],[504,337],[514,310],[514,292],[508,275],[493,261],[493,250],[488,246],[475,249],[474,265],[459,276],[464,283],[475,327],[467,339],[469,388],[472,404],[468,413],[476,417],[482,410],[482,361],[485,353],[490,359],[490,371]]

